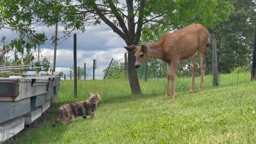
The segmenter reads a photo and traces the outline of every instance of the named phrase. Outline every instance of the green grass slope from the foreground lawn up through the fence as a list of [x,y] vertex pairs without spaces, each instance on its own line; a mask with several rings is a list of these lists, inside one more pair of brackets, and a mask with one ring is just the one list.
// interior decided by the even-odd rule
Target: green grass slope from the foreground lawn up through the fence
[[[206,77],[205,90],[193,93],[188,92],[189,78],[177,78],[178,95],[175,99],[163,97],[165,90],[161,86],[164,86],[166,79],[163,79],[164,82],[158,82],[161,79],[142,81],[141,87],[145,87],[142,91],[146,94],[140,95],[129,94],[130,90],[120,86],[120,83],[115,89],[99,90],[95,83],[103,87],[102,81],[91,82],[95,84],[91,86],[92,91],[98,90],[102,97],[96,111],[97,118],[78,118],[68,125],[51,127],[56,117],[53,115],[40,129],[20,137],[18,142],[255,143],[256,83],[250,82],[250,74],[241,74],[238,83],[235,76],[221,76],[222,86],[219,87],[212,87],[210,77]],[[153,81],[157,85],[147,85]],[[87,98],[90,89],[84,89],[85,95],[71,99],[71,95],[65,94],[64,90],[73,87],[65,83],[61,83],[58,103]],[[158,89],[161,90],[159,94]],[[118,90],[119,95],[113,94]]]

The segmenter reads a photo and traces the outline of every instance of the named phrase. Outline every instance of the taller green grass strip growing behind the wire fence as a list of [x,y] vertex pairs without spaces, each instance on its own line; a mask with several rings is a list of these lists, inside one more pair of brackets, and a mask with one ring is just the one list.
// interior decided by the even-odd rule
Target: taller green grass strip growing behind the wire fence
[[[239,83],[250,82],[249,73],[225,74],[219,76],[221,86],[236,85]],[[195,79],[195,91],[199,91],[200,77]],[[166,78],[148,79],[144,81],[140,79],[141,91],[143,94],[158,94],[164,95],[166,91]],[[191,77],[175,78],[175,90],[179,92],[189,91]],[[204,88],[209,89],[212,86],[212,76],[205,76]],[[78,80],[77,82],[77,99],[74,99],[74,81],[61,81],[58,103],[66,103],[75,100],[83,100],[87,98],[91,92],[99,92],[105,99],[112,97],[123,97],[131,95],[128,79],[105,79],[102,80]]]

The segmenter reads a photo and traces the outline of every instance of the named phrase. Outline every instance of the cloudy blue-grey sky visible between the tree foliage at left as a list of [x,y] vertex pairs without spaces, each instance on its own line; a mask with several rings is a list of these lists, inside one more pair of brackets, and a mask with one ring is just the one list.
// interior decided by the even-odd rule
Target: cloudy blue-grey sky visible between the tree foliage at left
[[[96,71],[95,73],[102,73],[102,69],[108,66],[111,58],[116,61],[124,58],[125,49],[123,46],[125,46],[125,42],[113,30],[106,28],[106,25],[90,26],[86,28],[84,33],[82,31],[73,31],[70,38],[62,43],[60,41],[57,47],[56,71],[63,71],[63,73],[69,74],[69,67],[74,63],[73,35],[75,33],[77,34],[77,66],[84,67],[83,63],[86,63],[86,67],[90,68],[92,67],[93,59],[95,59],[97,60],[98,68],[98,72]],[[49,38],[54,34],[54,30],[55,27],[39,26],[36,28],[37,32],[43,32]],[[62,30],[63,26],[58,26],[58,37],[62,37]],[[9,43],[11,39],[17,37],[17,34],[9,29],[2,29],[0,30],[0,37],[2,38],[2,36],[6,36],[6,43]],[[49,58],[53,63],[53,45],[42,45],[41,53],[43,57]],[[36,58],[37,52],[34,55]],[[102,74],[99,74],[100,77]]]

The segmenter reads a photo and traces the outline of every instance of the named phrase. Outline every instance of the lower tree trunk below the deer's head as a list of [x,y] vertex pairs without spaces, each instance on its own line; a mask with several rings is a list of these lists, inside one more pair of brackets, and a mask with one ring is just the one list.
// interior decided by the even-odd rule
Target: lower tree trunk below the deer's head
[[135,61],[136,59],[134,57],[134,54],[128,52],[128,77],[132,94],[141,93],[137,69],[134,67]]

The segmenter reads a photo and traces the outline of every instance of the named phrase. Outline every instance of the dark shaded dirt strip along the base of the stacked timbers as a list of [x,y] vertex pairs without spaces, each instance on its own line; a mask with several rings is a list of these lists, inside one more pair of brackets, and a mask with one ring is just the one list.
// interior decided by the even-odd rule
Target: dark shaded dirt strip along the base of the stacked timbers
[[10,138],[9,140],[5,141],[3,144],[17,144],[18,138],[23,137],[30,131],[34,131],[40,128],[41,124],[45,121],[49,121],[53,115],[57,115],[58,108],[60,105],[55,103],[51,104],[51,107],[47,109],[41,117],[37,118],[33,123],[30,125],[25,125],[24,129],[19,132],[18,134],[14,135],[14,137]]

